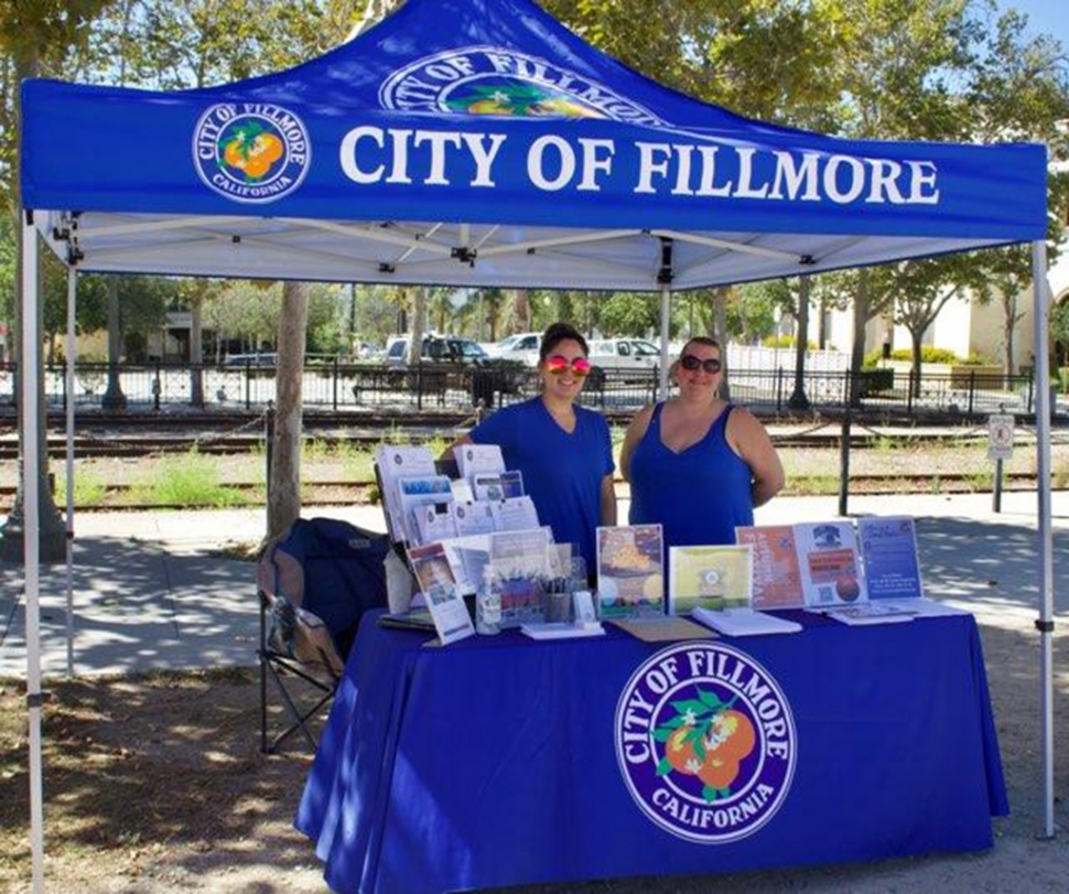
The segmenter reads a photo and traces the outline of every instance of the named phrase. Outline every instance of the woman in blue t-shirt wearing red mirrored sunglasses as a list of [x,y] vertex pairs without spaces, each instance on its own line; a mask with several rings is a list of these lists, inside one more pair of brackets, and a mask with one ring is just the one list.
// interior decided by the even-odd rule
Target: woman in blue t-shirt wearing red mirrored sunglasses
[[539,520],[558,543],[575,543],[593,571],[595,529],[616,524],[616,466],[604,417],[575,403],[589,354],[574,326],[553,323],[539,348],[541,395],[497,410],[457,444],[498,444],[505,466],[523,474]]

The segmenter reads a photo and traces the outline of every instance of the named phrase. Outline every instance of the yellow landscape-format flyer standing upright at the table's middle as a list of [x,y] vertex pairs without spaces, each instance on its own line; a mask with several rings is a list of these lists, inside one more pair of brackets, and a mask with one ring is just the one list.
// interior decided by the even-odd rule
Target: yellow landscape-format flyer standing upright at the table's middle
[[672,547],[668,551],[668,613],[684,615],[701,606],[748,608],[752,550],[746,546]]

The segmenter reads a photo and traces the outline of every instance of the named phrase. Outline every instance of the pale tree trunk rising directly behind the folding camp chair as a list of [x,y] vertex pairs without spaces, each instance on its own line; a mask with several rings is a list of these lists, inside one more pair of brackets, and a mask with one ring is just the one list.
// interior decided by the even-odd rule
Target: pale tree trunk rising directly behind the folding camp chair
[[268,537],[277,537],[301,515],[301,426],[304,343],[309,323],[306,282],[287,282],[279,320],[276,423],[268,483]]

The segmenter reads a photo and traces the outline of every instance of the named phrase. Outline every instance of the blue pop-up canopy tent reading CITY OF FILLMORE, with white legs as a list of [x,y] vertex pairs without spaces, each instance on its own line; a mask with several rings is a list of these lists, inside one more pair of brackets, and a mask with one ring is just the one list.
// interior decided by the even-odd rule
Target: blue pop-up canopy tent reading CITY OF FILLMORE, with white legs
[[[278,74],[175,93],[31,80],[23,104],[26,235],[72,271],[649,290],[667,317],[671,290],[1032,243],[1052,830],[1044,147],[760,123],[630,71],[530,0],[409,0]],[[33,321],[36,240],[24,245]],[[667,327],[661,349],[667,375]],[[24,461],[33,728],[35,453]],[[39,761],[37,818],[40,784]]]

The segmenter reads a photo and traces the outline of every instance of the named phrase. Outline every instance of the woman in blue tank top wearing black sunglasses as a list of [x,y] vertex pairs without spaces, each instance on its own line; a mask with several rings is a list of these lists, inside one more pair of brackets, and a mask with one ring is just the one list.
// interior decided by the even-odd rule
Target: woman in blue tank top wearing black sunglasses
[[641,410],[624,438],[630,523],[662,525],[666,549],[734,543],[735,527],[784,486],[784,466],[765,427],[717,397],[715,341],[691,338],[671,373],[679,397]]

